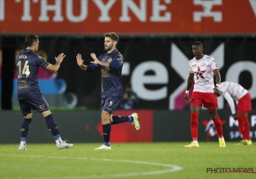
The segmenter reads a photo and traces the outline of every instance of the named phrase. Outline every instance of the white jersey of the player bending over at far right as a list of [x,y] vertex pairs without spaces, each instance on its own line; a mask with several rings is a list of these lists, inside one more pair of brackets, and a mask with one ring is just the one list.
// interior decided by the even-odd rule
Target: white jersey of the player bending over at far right
[[248,91],[244,89],[243,86],[237,84],[236,82],[230,81],[221,82],[219,90],[222,92],[222,95],[225,95],[225,93],[228,92],[235,101],[243,98],[244,95],[248,93]]

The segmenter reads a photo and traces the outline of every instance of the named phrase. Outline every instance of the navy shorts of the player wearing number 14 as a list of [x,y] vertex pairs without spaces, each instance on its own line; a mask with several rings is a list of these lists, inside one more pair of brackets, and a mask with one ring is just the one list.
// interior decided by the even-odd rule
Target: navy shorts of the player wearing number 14
[[38,98],[31,98],[28,100],[19,100],[20,112],[22,116],[26,116],[28,113],[35,111],[37,113],[43,113],[50,109],[44,96]]

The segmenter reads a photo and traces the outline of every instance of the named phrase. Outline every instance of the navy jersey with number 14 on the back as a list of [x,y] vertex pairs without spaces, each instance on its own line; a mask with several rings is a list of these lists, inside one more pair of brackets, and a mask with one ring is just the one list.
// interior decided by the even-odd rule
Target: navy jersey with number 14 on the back
[[18,100],[26,100],[42,96],[38,86],[39,66],[46,68],[49,63],[29,49],[23,49],[15,58],[15,70],[17,71]]

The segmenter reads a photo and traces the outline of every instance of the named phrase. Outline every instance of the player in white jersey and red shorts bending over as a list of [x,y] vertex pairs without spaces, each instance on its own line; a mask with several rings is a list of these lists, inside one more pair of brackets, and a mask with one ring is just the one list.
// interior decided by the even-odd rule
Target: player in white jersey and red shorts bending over
[[[234,120],[238,121],[239,132],[243,135],[241,143],[251,145],[252,140],[250,139],[248,112],[252,111],[252,99],[249,91],[236,82],[225,81],[221,82],[220,93],[217,95],[223,95],[230,106]],[[234,101],[237,104],[237,114]]]

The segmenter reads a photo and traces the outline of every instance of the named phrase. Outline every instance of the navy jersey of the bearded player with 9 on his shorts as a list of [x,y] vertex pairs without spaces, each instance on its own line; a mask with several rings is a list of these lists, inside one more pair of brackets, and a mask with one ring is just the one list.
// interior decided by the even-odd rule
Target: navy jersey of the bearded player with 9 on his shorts
[[[122,86],[122,68],[124,59],[120,52],[115,49],[111,53],[102,54],[99,56],[99,61],[110,63],[119,63],[119,68],[107,68],[105,66],[101,66],[101,75],[102,75],[102,97],[109,96],[118,96],[118,98],[122,98],[123,95],[123,86]],[[95,66],[95,64],[92,64]],[[93,68],[95,69],[95,68]]]

